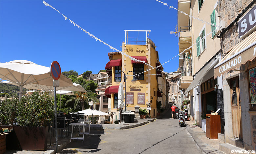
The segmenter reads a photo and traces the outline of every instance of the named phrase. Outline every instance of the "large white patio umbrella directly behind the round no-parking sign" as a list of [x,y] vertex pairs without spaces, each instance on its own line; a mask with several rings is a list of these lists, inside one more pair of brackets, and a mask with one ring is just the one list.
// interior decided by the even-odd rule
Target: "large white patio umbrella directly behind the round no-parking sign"
[[[19,100],[22,97],[22,88],[28,84],[53,86],[51,68],[37,65],[26,60],[15,60],[7,63],[0,63],[0,78],[17,83],[20,86]],[[59,78],[60,86],[73,86],[72,80],[61,73]]]

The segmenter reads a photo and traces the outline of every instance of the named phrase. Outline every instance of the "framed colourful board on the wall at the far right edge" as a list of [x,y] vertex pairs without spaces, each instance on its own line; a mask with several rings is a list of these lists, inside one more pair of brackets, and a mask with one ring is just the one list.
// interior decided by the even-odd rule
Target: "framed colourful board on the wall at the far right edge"
[[256,67],[249,70],[251,104],[256,104]]

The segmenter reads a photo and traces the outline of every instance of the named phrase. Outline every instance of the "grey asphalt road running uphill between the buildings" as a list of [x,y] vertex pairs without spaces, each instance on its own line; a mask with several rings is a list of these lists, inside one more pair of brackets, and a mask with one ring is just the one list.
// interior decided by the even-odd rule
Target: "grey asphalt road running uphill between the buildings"
[[139,127],[92,133],[95,135],[86,135],[84,143],[73,140],[59,153],[203,154],[186,127],[171,118],[170,111],[161,119]]

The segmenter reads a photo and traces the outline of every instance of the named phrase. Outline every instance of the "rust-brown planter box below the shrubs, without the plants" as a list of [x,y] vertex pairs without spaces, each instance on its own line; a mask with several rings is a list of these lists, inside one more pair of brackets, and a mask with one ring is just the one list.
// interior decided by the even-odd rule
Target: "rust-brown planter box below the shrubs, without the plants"
[[13,131],[6,137],[8,150],[46,150],[48,126],[1,126],[13,127]]

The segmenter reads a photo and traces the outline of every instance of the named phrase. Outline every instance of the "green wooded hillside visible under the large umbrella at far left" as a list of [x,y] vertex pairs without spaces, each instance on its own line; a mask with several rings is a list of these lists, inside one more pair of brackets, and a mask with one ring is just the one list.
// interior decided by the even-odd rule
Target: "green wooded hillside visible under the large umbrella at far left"
[[[10,85],[10,84],[0,84],[0,93],[8,93],[11,97],[18,97],[18,93],[20,91],[20,87]],[[27,91],[26,88],[23,88],[23,94],[25,94]]]

